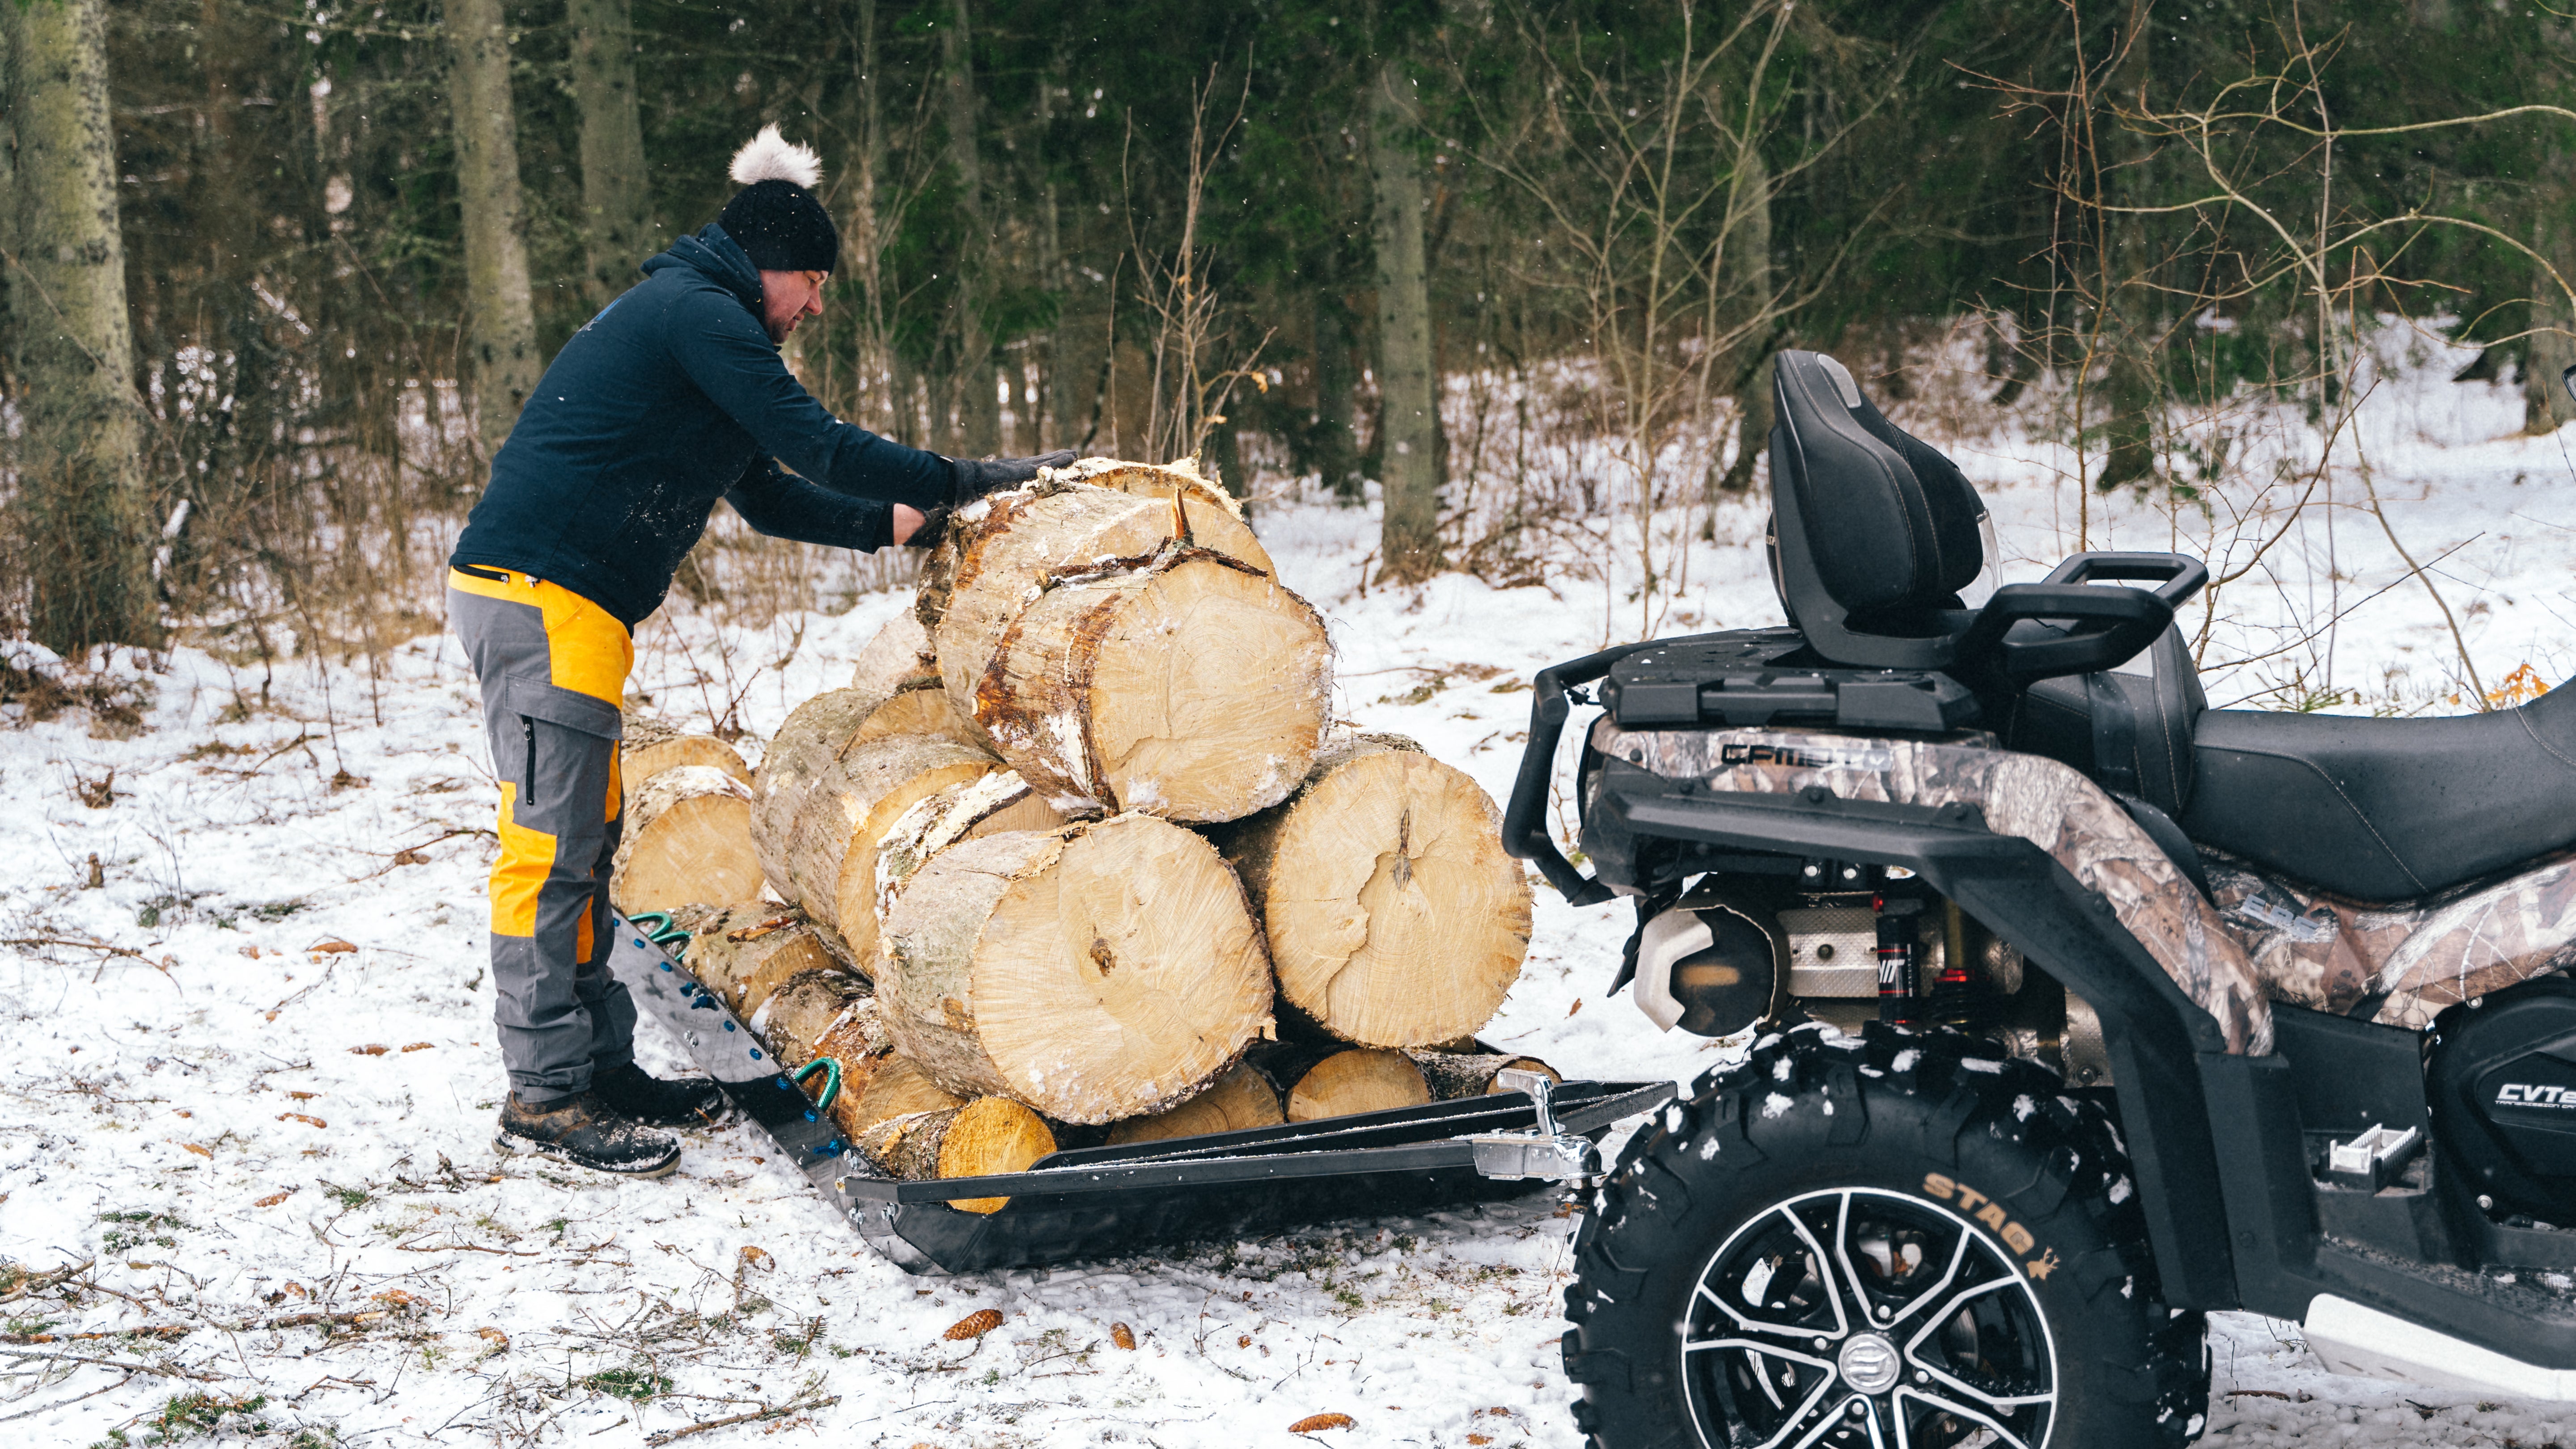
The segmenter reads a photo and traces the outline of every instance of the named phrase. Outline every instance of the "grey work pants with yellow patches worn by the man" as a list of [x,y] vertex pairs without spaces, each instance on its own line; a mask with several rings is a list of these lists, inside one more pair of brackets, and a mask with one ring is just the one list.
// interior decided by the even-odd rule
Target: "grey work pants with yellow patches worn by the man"
[[448,569],[448,620],[482,685],[500,780],[492,986],[520,1102],[634,1060],[636,1009],[608,975],[608,867],[634,638],[590,600],[510,569]]

